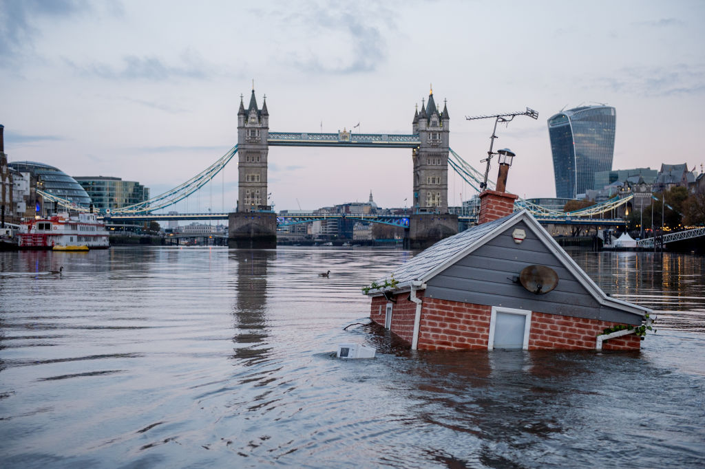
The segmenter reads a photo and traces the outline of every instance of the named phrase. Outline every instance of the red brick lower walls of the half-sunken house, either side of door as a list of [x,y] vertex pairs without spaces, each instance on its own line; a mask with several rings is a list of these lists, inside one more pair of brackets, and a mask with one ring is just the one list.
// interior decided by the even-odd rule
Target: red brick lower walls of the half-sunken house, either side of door
[[[411,343],[416,304],[407,300],[408,296],[408,293],[396,296],[391,330]],[[421,298],[423,292],[417,292],[417,296]],[[487,349],[491,306],[435,298],[424,298],[423,301],[419,350]],[[370,318],[383,326],[386,304],[383,296],[372,298]],[[606,328],[617,324],[619,323],[532,312],[529,350],[594,350],[596,337]],[[637,335],[628,334],[603,342],[602,349],[639,350],[641,344]]]

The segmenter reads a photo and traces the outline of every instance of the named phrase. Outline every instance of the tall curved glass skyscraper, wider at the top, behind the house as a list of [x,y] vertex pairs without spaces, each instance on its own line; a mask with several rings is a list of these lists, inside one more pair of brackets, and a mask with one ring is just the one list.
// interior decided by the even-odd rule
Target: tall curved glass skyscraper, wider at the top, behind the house
[[615,108],[582,106],[548,119],[556,197],[575,199],[594,187],[595,173],[612,169]]

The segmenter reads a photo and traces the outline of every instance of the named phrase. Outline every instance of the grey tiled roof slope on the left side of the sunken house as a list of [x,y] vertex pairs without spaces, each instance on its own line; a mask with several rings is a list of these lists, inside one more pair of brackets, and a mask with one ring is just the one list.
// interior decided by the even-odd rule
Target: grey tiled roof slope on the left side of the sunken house
[[[400,265],[385,278],[390,278],[391,275],[393,275],[394,279],[400,284],[412,282],[413,280],[427,280],[429,273],[436,267],[445,264],[460,253],[460,251],[466,249],[467,246],[489,235],[489,233],[493,232],[496,227],[500,226],[508,220],[508,218],[512,218],[516,215],[515,213],[514,215],[498,218],[488,223],[482,223],[482,225],[471,227],[468,230],[458,233],[458,235],[442,239],[425,251],[417,254],[407,263]],[[377,283],[384,283],[384,278],[378,280]]]

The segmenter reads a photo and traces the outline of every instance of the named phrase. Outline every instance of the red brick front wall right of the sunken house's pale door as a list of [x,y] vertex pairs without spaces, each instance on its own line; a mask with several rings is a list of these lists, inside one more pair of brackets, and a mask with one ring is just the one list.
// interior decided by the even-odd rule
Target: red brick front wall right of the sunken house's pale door
[[[572,318],[547,313],[532,313],[529,350],[595,349],[596,337],[619,323],[597,319]],[[642,341],[636,334],[615,337],[602,343],[603,350],[639,350]]]

